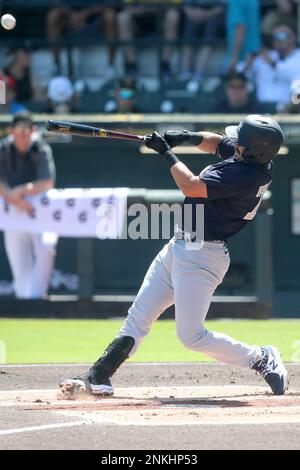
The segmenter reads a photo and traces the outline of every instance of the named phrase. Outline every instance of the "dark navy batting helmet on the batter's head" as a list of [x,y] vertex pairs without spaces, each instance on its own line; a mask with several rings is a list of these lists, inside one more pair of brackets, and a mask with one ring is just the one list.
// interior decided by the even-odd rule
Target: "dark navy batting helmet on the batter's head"
[[245,147],[242,155],[250,163],[266,163],[278,153],[284,135],[278,122],[267,116],[250,114],[238,126],[228,126],[229,139]]

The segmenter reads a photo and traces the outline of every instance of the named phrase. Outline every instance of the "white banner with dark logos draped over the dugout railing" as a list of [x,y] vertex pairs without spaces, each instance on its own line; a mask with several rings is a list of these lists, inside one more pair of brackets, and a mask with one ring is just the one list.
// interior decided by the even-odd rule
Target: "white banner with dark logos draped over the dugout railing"
[[0,197],[0,230],[120,238],[128,191],[128,188],[51,189],[28,197],[34,208],[30,215]]

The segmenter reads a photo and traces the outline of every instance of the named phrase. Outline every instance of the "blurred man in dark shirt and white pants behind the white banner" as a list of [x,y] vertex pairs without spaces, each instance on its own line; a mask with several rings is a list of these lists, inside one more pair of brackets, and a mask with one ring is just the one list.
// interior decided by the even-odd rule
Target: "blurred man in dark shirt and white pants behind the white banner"
[[[22,212],[32,206],[26,196],[54,187],[52,151],[33,125],[28,112],[14,115],[9,136],[0,141],[0,196]],[[18,298],[46,295],[55,258],[57,236],[5,231],[4,244]]]

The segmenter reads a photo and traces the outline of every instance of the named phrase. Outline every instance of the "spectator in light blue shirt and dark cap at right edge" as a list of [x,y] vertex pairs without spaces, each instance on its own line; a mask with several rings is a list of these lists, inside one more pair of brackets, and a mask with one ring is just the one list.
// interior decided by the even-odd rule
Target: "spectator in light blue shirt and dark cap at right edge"
[[276,103],[281,111],[290,103],[292,83],[300,78],[300,49],[295,31],[287,24],[273,29],[273,49],[264,49],[248,67],[260,103]]

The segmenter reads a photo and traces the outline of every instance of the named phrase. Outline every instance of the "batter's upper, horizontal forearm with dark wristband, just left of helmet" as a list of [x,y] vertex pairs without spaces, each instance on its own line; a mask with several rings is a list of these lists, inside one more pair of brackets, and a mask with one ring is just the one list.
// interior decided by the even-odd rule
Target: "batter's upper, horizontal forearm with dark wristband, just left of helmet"
[[211,153],[212,155],[216,155],[222,140],[221,135],[214,134],[213,132],[166,131],[163,137],[171,148],[186,142],[196,145],[203,152]]

